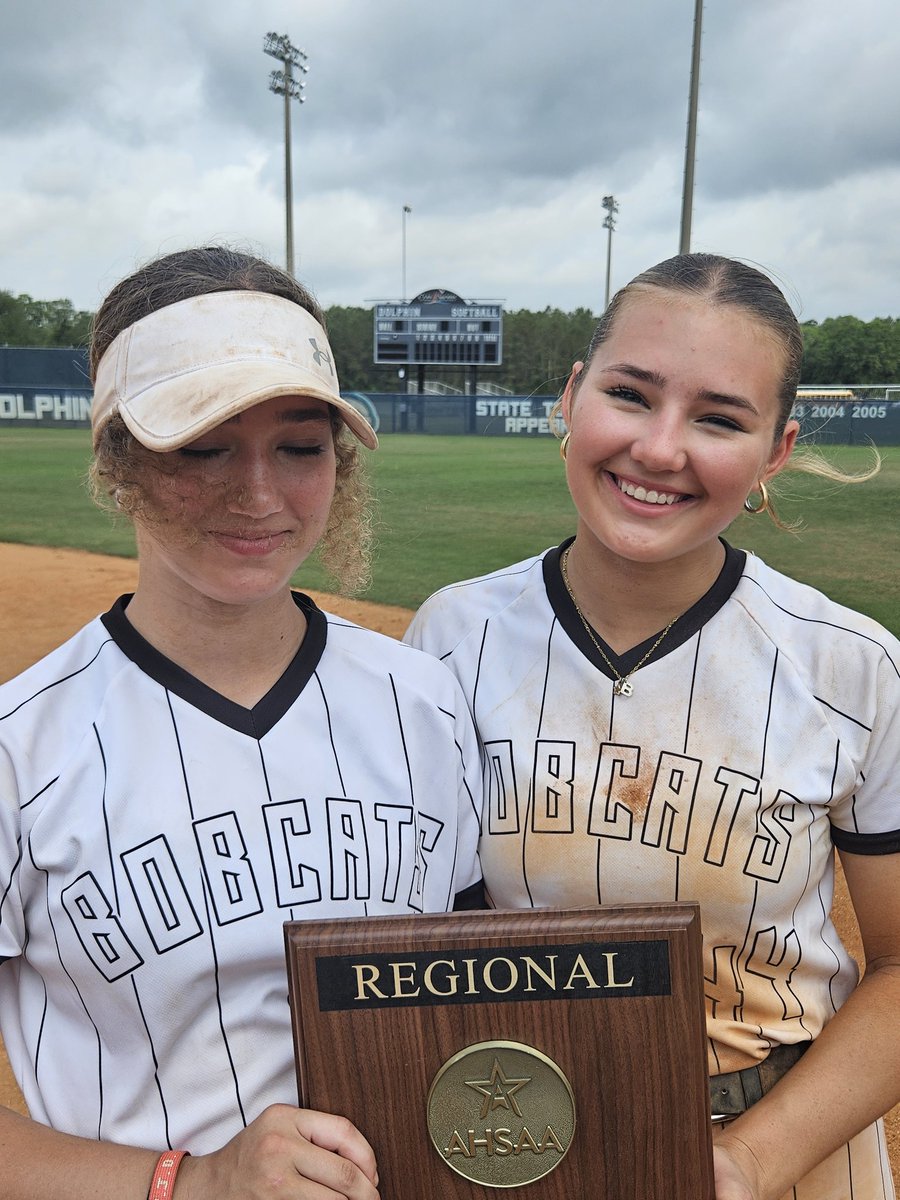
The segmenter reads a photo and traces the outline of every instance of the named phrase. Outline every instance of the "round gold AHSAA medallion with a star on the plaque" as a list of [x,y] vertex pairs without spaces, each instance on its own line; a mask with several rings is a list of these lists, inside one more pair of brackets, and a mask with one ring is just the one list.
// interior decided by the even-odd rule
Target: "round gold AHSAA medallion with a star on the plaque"
[[487,1188],[533,1183],[575,1135],[559,1067],[521,1042],[478,1042],[448,1058],[428,1091],[428,1133],[446,1165]]

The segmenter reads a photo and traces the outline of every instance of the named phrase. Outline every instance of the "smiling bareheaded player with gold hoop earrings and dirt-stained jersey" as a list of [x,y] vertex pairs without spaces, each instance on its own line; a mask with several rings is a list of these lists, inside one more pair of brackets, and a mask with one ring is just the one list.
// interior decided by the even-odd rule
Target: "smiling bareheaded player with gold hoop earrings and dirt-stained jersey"
[[788,461],[846,480],[794,452],[802,354],[755,268],[640,275],[562,395],[575,536],[443,589],[407,635],[475,718],[494,906],[700,902],[718,1200],[894,1194],[900,646],[722,538]]

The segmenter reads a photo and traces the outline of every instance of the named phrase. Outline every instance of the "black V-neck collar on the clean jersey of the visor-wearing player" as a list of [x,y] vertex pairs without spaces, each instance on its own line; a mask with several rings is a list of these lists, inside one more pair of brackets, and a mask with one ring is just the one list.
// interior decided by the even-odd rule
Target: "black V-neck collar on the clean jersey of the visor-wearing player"
[[208,688],[142,637],[125,616],[131,595],[119,596],[101,620],[122,654],[140,667],[144,674],[221,725],[258,739],[277,725],[294,703],[312,678],[325,649],[325,614],[302,592],[292,592],[292,595],[294,604],[306,617],[306,635],[284,673],[252,708],[244,708]]

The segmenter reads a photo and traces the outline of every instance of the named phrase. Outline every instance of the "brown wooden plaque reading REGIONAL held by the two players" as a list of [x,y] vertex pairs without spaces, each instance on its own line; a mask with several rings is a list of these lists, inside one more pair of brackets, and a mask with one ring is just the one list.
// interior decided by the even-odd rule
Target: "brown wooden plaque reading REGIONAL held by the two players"
[[712,1200],[700,911],[284,926],[300,1103],[386,1200]]

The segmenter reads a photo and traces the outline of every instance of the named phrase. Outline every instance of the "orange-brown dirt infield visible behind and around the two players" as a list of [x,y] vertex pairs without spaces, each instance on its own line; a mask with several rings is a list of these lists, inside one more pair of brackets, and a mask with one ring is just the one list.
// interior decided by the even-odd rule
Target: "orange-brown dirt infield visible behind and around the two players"
[[[0,682],[59,646],[118,595],[137,582],[133,559],[108,558],[73,550],[0,544]],[[344,600],[312,592],[322,607],[400,637],[407,608]],[[851,953],[860,960],[859,935],[842,876],[838,880],[834,920]],[[0,1045],[0,1104],[25,1111]],[[887,1121],[894,1177],[900,1192],[900,1108]]]

